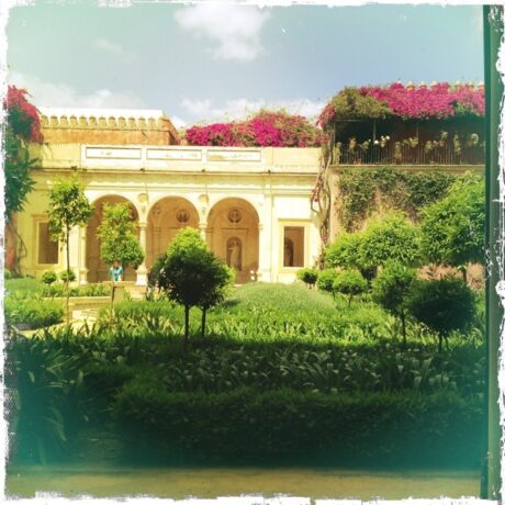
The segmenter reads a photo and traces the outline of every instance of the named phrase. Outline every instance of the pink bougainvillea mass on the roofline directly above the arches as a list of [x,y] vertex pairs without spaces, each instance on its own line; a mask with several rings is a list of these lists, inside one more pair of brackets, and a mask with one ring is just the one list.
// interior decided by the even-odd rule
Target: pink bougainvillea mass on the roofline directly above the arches
[[324,134],[301,115],[261,111],[243,122],[192,126],[186,138],[198,146],[317,147]]

